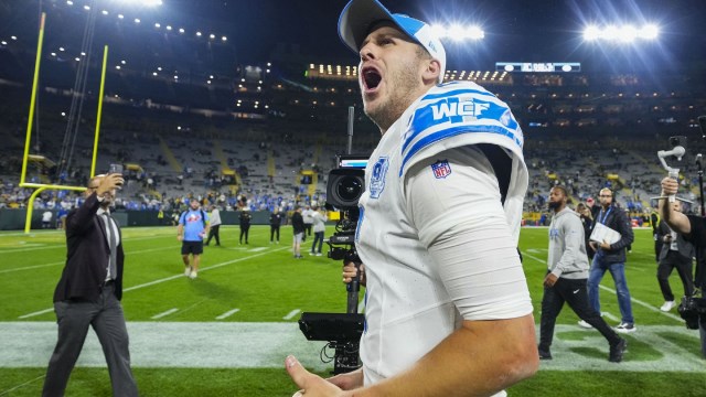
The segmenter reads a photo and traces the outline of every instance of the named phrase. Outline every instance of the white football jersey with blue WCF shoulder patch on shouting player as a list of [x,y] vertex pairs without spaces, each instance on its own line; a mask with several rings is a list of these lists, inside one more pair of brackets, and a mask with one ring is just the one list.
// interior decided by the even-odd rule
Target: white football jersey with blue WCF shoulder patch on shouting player
[[[477,143],[496,144],[512,159],[510,186],[502,206],[493,168],[479,149],[472,148]],[[516,251],[527,187],[522,146],[522,130],[507,105],[477,84],[459,82],[431,88],[381,139],[365,170],[366,189],[359,203],[355,235],[367,278],[366,324],[361,339],[366,384],[406,369],[458,329],[462,320],[513,319],[532,312]],[[468,178],[475,189],[477,176],[464,176],[462,167],[457,164],[470,165],[481,176],[492,179],[494,189],[485,183],[477,189],[478,195],[446,194],[456,189],[457,182],[452,181],[467,183]],[[429,194],[422,191],[407,197],[406,182],[418,174],[424,180],[415,183],[428,183],[425,189]],[[437,189],[436,181],[443,187]],[[468,256],[479,257],[475,259],[480,261],[472,259],[461,268],[474,269],[461,269],[461,277],[457,277],[458,268],[453,268],[454,273],[448,276],[448,269],[437,265],[439,256],[434,257],[429,248],[442,233],[437,230],[460,217],[474,225],[478,233],[488,234],[483,228],[488,205],[473,204],[463,214],[443,211],[443,216],[425,218],[424,227],[415,224],[420,221],[418,213],[424,212],[417,211],[417,205],[424,201],[421,208],[457,208],[460,201],[473,197],[491,198],[495,214],[500,214],[494,225],[501,224],[502,238],[492,239],[488,253],[472,253],[474,248],[469,248]],[[410,204],[413,198],[415,205]],[[462,237],[469,235],[472,234]],[[502,257],[494,255],[495,240],[504,249]],[[488,270],[481,276],[474,275],[479,262],[484,267],[481,270]],[[496,268],[501,270],[495,272]],[[506,270],[510,272],[503,272]],[[456,286],[454,281],[449,282],[454,277],[474,278],[475,285],[471,281]],[[510,283],[495,286],[498,277],[511,279]],[[473,291],[469,291],[470,285]]]

